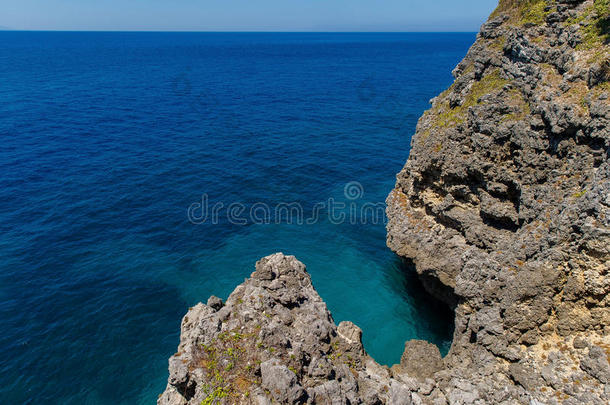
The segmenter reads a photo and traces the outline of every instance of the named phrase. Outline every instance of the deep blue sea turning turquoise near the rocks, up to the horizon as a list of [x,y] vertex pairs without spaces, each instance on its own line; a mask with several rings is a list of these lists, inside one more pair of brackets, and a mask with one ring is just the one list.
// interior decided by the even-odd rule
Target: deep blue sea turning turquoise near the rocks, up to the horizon
[[154,403],[188,307],[278,251],[379,362],[446,352],[451,314],[351,214],[474,38],[0,32],[0,402]]

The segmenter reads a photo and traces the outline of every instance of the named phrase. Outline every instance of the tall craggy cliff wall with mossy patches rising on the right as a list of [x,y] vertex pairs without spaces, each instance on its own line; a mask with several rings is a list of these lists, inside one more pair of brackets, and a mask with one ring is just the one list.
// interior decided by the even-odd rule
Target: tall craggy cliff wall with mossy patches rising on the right
[[418,123],[387,242],[457,303],[452,403],[610,401],[609,18],[501,1]]

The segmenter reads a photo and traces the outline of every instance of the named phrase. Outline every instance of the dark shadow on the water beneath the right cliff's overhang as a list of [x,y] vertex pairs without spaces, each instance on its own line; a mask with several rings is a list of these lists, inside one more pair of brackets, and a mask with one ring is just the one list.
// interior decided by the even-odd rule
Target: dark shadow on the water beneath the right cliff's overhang
[[430,294],[410,260],[396,257],[388,278],[392,288],[415,309],[418,338],[434,343],[445,356],[453,339],[455,305]]

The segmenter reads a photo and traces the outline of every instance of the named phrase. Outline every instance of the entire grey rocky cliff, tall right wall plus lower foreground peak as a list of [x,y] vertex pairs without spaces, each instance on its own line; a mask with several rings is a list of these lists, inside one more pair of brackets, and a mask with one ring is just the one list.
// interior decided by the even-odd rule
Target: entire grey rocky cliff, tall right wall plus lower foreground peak
[[455,308],[378,365],[282,254],[189,310],[158,403],[610,401],[610,2],[502,0],[420,119],[388,246]]

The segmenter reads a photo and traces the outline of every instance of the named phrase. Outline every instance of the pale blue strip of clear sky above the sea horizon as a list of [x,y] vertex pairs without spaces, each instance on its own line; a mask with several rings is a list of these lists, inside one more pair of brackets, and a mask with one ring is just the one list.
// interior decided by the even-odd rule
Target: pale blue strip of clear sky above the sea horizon
[[0,0],[0,27],[93,31],[478,31],[497,0]]

